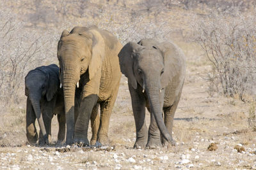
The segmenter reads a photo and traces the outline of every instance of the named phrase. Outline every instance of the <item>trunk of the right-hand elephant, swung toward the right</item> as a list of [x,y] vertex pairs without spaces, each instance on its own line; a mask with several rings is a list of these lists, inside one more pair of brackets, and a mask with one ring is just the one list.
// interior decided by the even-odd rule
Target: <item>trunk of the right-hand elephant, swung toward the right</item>
[[[156,80],[154,80],[156,81]],[[150,111],[151,113],[153,113],[155,119],[156,119],[156,123],[157,126],[161,132],[161,134],[163,134],[164,138],[171,142],[172,141],[172,136],[169,134],[168,129],[166,128],[165,124],[164,124],[164,120],[163,120],[163,116],[162,116],[162,110],[163,110],[163,106],[160,106],[160,87],[159,87],[159,83],[154,83],[154,81],[146,81],[146,90],[147,90],[147,95],[148,95],[148,101],[150,104]]]

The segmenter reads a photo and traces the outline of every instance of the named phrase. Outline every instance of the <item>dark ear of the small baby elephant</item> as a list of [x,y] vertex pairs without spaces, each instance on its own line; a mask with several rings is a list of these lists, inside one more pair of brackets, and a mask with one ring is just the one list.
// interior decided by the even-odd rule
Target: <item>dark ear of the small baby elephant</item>
[[50,71],[47,74],[48,77],[48,86],[46,90],[46,99],[47,101],[51,101],[53,96],[56,94],[60,80],[58,78],[58,73],[55,73],[54,71]]

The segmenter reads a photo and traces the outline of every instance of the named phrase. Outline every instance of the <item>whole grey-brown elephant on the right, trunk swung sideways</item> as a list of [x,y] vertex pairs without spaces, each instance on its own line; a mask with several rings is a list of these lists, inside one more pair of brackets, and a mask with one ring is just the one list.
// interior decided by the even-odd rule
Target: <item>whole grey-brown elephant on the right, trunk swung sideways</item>
[[[124,45],[118,57],[131,95],[136,125],[134,148],[175,145],[172,127],[185,78],[184,53],[169,41],[141,39]],[[148,129],[145,108],[150,112]]]

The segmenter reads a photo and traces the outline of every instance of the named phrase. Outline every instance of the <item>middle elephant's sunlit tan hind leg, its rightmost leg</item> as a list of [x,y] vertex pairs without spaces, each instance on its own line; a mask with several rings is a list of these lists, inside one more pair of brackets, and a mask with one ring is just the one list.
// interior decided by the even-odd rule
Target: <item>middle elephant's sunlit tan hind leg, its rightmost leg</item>
[[113,106],[116,101],[118,89],[113,94],[113,96],[109,97],[108,100],[100,103],[100,125],[99,131],[97,134],[97,141],[102,145],[109,145],[108,140],[108,127],[109,127],[109,120],[113,110]]

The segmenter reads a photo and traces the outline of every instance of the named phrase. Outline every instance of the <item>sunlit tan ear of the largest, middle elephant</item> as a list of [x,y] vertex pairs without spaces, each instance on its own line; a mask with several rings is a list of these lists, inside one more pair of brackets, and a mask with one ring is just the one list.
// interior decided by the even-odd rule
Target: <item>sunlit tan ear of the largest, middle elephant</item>
[[95,30],[90,30],[92,32],[92,59],[89,63],[89,78],[95,76],[98,71],[101,71],[102,68],[102,61],[105,57],[105,43],[104,39],[100,35],[100,32]]

